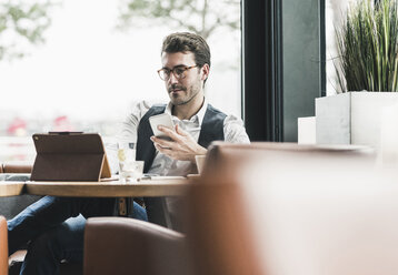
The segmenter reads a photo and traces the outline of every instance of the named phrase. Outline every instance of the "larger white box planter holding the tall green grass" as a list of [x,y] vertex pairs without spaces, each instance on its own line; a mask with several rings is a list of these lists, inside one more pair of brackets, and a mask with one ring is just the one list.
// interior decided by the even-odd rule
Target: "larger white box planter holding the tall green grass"
[[397,103],[396,92],[349,92],[316,99],[317,143],[378,147],[381,111]]

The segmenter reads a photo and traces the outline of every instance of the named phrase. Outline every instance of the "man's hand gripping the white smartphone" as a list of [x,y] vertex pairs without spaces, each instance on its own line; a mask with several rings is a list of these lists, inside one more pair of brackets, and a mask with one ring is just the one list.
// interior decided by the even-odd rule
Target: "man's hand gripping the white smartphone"
[[155,147],[167,156],[179,161],[195,162],[195,155],[206,154],[207,150],[200,146],[193,138],[176,125],[176,132],[171,129],[158,126],[171,141],[151,136]]

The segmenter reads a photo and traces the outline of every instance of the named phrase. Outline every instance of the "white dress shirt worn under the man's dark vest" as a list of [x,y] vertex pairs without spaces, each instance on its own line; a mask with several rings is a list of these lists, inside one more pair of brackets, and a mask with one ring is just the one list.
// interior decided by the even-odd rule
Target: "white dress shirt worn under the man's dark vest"
[[[169,103],[165,110],[165,113],[169,113],[172,118],[175,125],[179,125],[183,131],[188,132],[197,142],[199,140],[201,123],[207,110],[207,101],[197,114],[190,120],[180,120],[171,114],[172,104]],[[141,118],[152,106],[147,101],[141,101],[135,105],[132,112],[122,124],[120,139],[130,140],[137,143],[137,129]],[[242,120],[235,115],[228,115],[223,121],[223,136],[226,142],[230,143],[250,143],[249,136],[246,133]],[[169,156],[156,151],[153,163],[148,173],[158,175],[187,175],[195,170],[195,164],[190,161],[172,160]]]

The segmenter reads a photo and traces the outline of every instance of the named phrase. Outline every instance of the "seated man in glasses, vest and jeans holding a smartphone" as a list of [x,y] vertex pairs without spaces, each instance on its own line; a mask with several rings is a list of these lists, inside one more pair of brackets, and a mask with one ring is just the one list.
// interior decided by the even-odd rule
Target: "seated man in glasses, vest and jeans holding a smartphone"
[[[249,142],[240,120],[205,100],[210,51],[201,37],[170,34],[163,41],[161,61],[158,73],[170,103],[138,104],[121,132],[123,139],[137,142],[137,160],[145,161],[145,172],[186,175],[191,172],[195,155],[206,154],[211,141]],[[175,130],[159,128],[169,141],[152,136],[149,124],[150,116],[163,112],[172,115],[176,124]],[[159,205],[159,198],[146,200],[149,221],[163,224]],[[57,274],[61,259],[82,262],[84,218],[112,215],[115,206],[115,198],[46,196],[8,222],[9,253],[30,242],[21,274]],[[146,220],[145,210],[137,204],[133,212],[133,217]],[[72,216],[78,217],[66,221]]]

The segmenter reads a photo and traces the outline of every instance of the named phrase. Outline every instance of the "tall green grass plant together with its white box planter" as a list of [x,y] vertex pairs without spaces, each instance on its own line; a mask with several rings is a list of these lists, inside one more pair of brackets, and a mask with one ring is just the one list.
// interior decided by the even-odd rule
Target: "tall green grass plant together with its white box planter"
[[342,93],[316,99],[317,143],[378,146],[381,110],[398,103],[397,2],[360,0],[336,30]]

